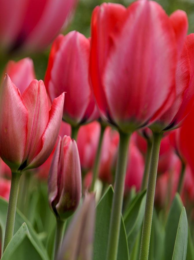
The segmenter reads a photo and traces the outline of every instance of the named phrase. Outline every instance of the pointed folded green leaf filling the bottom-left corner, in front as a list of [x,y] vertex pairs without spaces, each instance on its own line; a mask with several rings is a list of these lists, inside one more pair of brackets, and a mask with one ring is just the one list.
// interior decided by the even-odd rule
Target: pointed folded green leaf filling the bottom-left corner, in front
[[6,247],[1,260],[45,260],[43,252],[30,237],[28,227],[25,222],[12,237],[10,243]]

